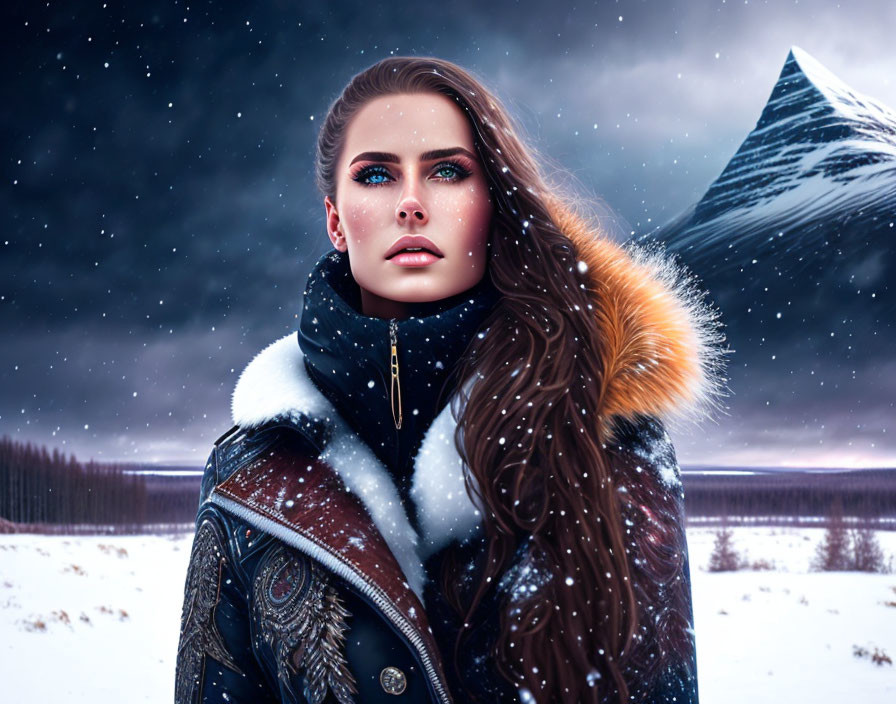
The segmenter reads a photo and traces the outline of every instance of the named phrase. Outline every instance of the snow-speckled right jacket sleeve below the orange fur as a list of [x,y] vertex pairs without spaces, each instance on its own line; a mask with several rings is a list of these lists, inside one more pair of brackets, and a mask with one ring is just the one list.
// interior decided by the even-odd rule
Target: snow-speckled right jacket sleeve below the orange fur
[[653,417],[622,423],[616,438],[613,451],[624,470],[619,489],[643,614],[635,647],[652,649],[658,663],[644,673],[632,701],[698,704],[684,487],[675,449]]

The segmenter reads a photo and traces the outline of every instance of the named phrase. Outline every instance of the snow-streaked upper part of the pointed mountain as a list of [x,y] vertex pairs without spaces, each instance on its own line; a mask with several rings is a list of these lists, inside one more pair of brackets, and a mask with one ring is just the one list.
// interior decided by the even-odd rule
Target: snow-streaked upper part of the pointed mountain
[[722,174],[693,208],[649,237],[694,264],[733,269],[769,252],[807,256],[826,241],[857,252],[866,228],[893,236],[894,214],[896,111],[794,46]]

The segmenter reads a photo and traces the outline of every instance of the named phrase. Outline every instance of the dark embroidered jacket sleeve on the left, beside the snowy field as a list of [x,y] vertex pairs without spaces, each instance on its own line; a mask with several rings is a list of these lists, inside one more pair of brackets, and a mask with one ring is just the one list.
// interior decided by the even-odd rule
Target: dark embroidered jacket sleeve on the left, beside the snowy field
[[277,702],[252,648],[248,598],[229,540],[231,521],[205,502],[216,475],[212,452],[184,587],[174,701]]

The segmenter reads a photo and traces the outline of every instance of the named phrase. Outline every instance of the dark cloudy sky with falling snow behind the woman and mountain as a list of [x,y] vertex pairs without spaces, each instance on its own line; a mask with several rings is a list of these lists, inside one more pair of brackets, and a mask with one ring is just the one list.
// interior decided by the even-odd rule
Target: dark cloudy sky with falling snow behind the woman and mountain
[[[0,10],[0,435],[201,463],[327,249],[321,118],[384,56],[476,72],[622,236],[703,194],[791,45],[896,106],[892,2],[239,5]],[[701,437],[683,463],[734,461]]]

